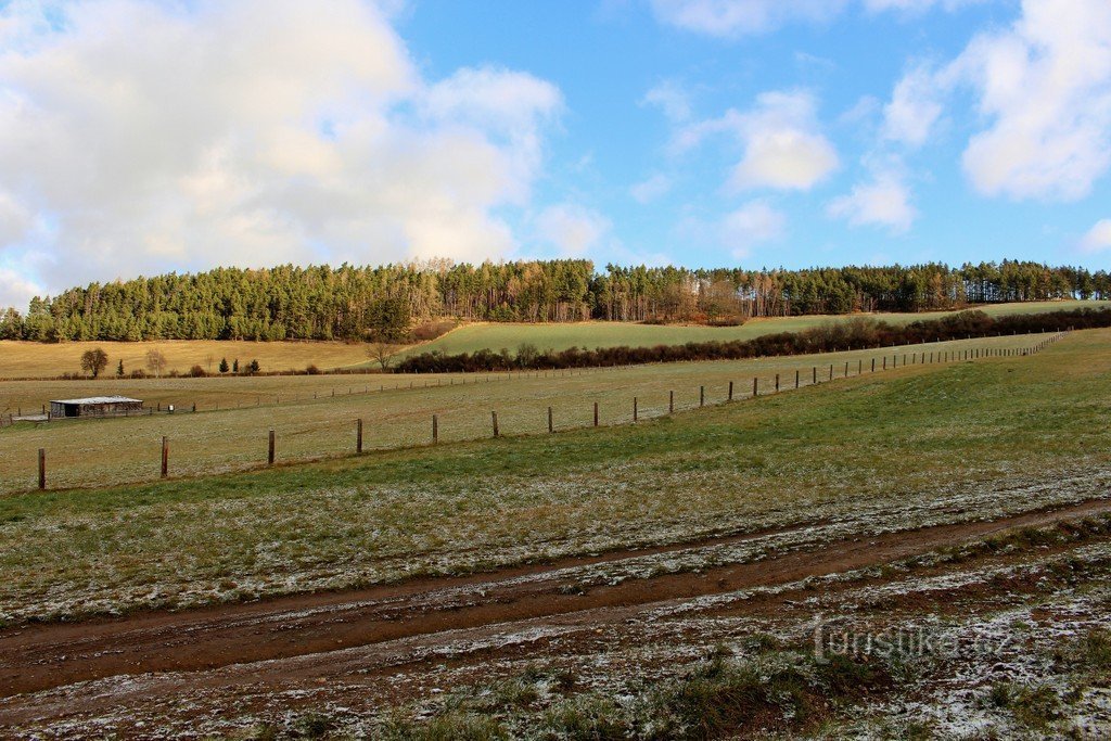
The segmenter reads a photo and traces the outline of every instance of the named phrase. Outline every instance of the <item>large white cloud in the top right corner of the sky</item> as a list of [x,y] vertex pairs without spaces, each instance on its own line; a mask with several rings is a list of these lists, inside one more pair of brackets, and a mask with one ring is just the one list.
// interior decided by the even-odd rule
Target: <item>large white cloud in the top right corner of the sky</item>
[[945,73],[991,121],[963,154],[981,193],[1077,200],[1111,167],[1107,0],[1024,0],[1011,28],[975,37]]

